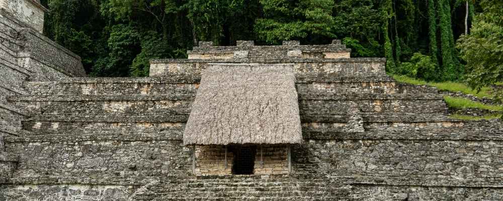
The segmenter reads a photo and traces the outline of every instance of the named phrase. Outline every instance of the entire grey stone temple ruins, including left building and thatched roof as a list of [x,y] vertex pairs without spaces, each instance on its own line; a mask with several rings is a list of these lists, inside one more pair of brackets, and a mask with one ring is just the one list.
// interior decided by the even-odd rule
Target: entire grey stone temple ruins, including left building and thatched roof
[[503,200],[500,121],[350,49],[200,42],[150,77],[88,78],[0,0],[0,200]]

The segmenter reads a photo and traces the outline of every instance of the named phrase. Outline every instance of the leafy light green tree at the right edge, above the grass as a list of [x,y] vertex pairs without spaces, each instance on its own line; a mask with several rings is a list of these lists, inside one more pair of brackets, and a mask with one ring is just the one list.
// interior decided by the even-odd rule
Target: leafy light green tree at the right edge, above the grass
[[[473,88],[503,80],[503,1],[482,0],[483,12],[476,15],[469,35],[458,40],[466,61],[466,81]],[[501,100],[502,91],[496,96]]]

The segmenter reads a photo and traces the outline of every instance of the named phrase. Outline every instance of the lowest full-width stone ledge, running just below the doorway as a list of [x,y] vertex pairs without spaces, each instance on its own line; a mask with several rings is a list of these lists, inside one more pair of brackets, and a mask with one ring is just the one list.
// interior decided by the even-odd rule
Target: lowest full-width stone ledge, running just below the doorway
[[[386,177],[386,176],[330,176],[325,175],[324,179],[316,179],[315,174],[306,174],[304,177],[310,181],[299,181],[303,178],[277,178],[272,177],[269,179],[258,178],[256,175],[252,176],[238,176],[227,175],[219,177],[197,178],[192,176],[176,176],[170,173],[160,173],[157,171],[136,171],[138,176],[121,176],[121,171],[93,171],[95,176],[82,175],[84,172],[75,172],[82,176],[65,176],[54,175],[36,175],[20,176],[19,173],[26,170],[16,170],[13,177],[6,184],[87,184],[87,185],[145,185],[152,180],[161,182],[168,182],[174,184],[187,184],[187,183],[207,183],[207,184],[240,184],[243,182],[258,183],[277,183],[277,182],[319,182],[325,185],[389,185],[389,186],[422,186],[422,187],[466,187],[466,188],[502,188],[503,179],[499,177],[479,178],[479,179],[455,179],[455,178],[409,178],[409,177]],[[54,170],[40,170],[42,172],[54,172]],[[188,171],[188,170],[185,170]],[[148,173],[150,172],[150,173]],[[57,173],[54,172],[54,173]],[[88,172],[89,174],[91,172]],[[172,172],[175,173],[175,172]],[[118,174],[118,175],[117,175]],[[156,176],[151,176],[151,175]],[[283,175],[281,175],[283,176]],[[191,179],[192,178],[192,179]],[[485,180],[483,180],[485,179]]]

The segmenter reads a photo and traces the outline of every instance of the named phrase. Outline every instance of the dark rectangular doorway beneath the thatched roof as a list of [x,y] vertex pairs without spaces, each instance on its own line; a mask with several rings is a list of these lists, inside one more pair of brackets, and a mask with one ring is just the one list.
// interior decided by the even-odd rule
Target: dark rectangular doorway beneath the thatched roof
[[233,174],[253,174],[257,146],[235,145],[232,146],[234,161],[232,162]]

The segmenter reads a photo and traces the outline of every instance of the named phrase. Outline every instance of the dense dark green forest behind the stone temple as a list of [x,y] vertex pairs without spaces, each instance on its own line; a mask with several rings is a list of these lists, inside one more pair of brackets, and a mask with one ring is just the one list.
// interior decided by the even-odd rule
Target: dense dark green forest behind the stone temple
[[[50,10],[45,34],[80,55],[91,76],[148,76],[149,59],[185,58],[198,41],[273,45],[282,40],[328,44],[342,39],[353,49],[352,57],[386,57],[389,73],[435,81],[470,79],[465,70],[474,67],[466,66],[469,55],[460,50],[477,44],[456,43],[470,35],[472,22],[484,12],[495,12],[493,23],[501,28],[501,2],[42,0]],[[501,38],[496,39],[499,48]],[[493,61],[500,62],[497,69],[501,59]],[[498,73],[494,79],[501,78],[503,73]]]

